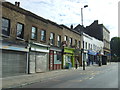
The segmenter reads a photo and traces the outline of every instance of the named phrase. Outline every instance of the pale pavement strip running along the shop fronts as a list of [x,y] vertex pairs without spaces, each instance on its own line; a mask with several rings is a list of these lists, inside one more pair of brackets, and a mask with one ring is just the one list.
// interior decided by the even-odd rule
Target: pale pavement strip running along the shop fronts
[[[107,65],[110,65],[110,64],[107,64]],[[99,66],[98,65],[87,66],[86,71],[95,67],[97,68]],[[83,67],[78,67],[78,69],[75,69],[75,68],[61,69],[61,70],[48,71],[44,73],[25,74],[25,75],[19,75],[19,76],[0,78],[0,81],[2,81],[2,85],[0,86],[0,88],[17,88],[23,85],[42,82],[44,80],[53,79],[56,76],[59,77],[60,75],[68,74],[73,70],[83,71]]]

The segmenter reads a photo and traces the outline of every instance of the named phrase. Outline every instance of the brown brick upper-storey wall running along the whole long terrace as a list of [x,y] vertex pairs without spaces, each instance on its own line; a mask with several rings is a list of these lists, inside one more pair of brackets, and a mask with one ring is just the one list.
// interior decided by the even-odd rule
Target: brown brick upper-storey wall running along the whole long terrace
[[[37,28],[37,39],[31,40],[37,43],[49,44],[50,33],[55,33],[55,46],[57,46],[57,35],[61,36],[61,42],[64,40],[64,35],[71,37],[73,39],[73,45],[75,44],[75,39],[80,40],[80,35],[61,27],[60,25],[46,20],[40,16],[37,16],[29,11],[26,11],[18,6],[15,6],[10,3],[3,4],[2,8],[2,16],[10,19],[10,37],[7,38],[9,40],[16,40],[16,25],[17,22],[24,24],[24,40],[31,40],[31,30],[32,26]],[[46,41],[40,41],[40,30],[46,30]],[[19,41],[19,40],[18,40]]]

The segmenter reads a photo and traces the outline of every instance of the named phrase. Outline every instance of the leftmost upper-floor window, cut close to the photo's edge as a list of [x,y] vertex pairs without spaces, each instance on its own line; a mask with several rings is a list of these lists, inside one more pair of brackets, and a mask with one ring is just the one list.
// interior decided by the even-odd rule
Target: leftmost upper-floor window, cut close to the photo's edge
[[2,18],[2,34],[9,36],[10,35],[10,20]]

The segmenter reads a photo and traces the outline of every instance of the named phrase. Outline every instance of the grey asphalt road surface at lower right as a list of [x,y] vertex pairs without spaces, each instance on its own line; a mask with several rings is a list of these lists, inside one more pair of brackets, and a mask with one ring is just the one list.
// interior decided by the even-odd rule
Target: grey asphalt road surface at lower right
[[74,70],[20,88],[118,88],[118,63]]

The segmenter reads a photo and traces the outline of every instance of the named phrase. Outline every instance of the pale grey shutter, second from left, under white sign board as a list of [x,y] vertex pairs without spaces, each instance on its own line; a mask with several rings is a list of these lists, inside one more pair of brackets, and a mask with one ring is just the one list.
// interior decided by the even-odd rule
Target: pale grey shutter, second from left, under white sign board
[[47,54],[30,52],[30,73],[45,72],[47,70]]

